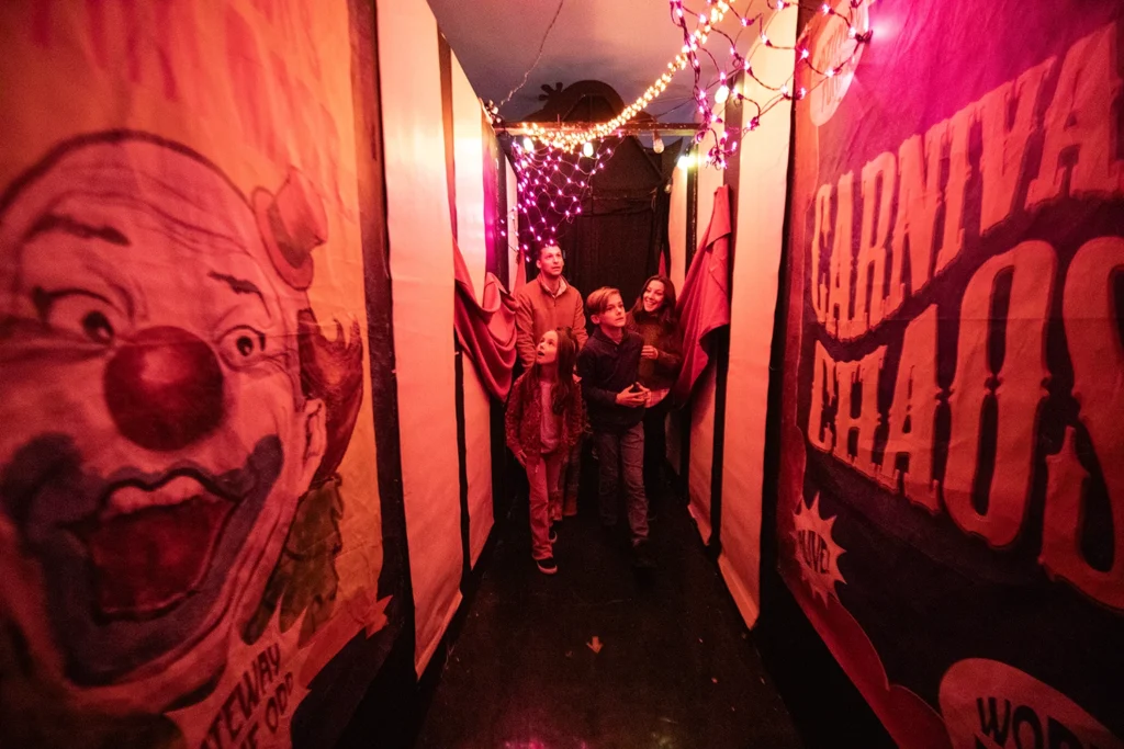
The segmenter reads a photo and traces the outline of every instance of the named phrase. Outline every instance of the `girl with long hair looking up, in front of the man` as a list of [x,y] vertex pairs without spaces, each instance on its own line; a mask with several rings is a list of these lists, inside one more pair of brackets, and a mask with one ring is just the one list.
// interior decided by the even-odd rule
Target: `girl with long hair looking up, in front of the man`
[[562,512],[559,471],[584,426],[581,389],[573,380],[577,359],[570,329],[547,330],[507,402],[507,445],[531,484],[531,556],[545,575],[558,572],[551,518]]

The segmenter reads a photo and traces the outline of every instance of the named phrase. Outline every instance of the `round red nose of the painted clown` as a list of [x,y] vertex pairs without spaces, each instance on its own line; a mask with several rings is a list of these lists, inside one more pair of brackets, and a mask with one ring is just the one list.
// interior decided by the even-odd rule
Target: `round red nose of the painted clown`
[[106,367],[106,403],[121,435],[178,450],[223,421],[223,369],[211,347],[181,328],[149,328]]

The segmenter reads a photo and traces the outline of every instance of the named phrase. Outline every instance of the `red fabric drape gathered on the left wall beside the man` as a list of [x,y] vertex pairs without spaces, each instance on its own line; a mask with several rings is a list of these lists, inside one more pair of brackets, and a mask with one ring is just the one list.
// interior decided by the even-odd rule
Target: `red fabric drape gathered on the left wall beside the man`
[[484,275],[483,302],[477,302],[461,248],[453,246],[456,298],[453,327],[461,348],[477,366],[480,382],[504,401],[515,368],[515,298],[491,273]]

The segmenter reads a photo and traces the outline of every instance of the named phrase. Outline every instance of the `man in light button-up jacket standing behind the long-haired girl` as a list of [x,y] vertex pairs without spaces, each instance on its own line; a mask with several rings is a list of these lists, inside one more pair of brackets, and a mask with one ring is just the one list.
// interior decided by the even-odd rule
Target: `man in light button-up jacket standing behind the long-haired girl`
[[[578,341],[578,350],[581,350],[589,338],[581,292],[562,277],[562,270],[565,267],[562,249],[553,243],[541,245],[535,267],[538,268],[538,275],[515,292],[518,303],[515,313],[515,347],[524,368],[535,363],[535,347],[547,330],[571,328],[574,340]],[[562,512],[565,515],[578,513],[580,471],[581,440],[570,450],[566,465],[559,472],[559,491],[562,492]]]

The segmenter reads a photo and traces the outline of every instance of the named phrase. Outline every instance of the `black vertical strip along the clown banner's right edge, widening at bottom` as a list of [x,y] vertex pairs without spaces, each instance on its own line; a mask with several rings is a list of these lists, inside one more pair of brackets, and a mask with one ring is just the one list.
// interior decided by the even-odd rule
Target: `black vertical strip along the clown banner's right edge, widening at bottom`
[[[361,633],[312,679],[309,696],[293,716],[292,743],[298,748],[333,743],[341,749],[370,746],[374,737],[382,746],[407,746],[409,724],[402,715],[411,710],[415,692],[416,614],[406,537],[398,382],[395,374],[378,18],[373,0],[348,0],[347,9],[351,20],[352,97],[355,103],[359,226],[371,367],[370,398],[374,404],[375,466],[383,544],[378,595],[380,599],[390,596],[390,603],[386,611],[388,623],[380,632],[370,639]],[[312,705],[312,694],[321,685],[326,694],[318,701],[316,712],[323,714],[302,720],[302,709]],[[355,693],[362,696],[352,697]],[[334,740],[336,736],[338,741]]]

